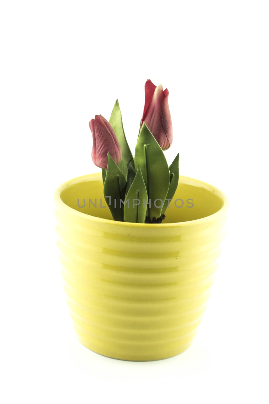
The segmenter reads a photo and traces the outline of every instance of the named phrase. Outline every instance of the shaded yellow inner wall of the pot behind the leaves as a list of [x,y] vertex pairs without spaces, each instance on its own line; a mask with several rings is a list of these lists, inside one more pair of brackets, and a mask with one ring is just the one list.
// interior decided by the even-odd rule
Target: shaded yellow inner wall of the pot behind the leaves
[[[104,196],[101,174],[75,178],[61,187],[60,199],[70,208],[103,219],[112,219]],[[156,204],[160,204],[156,201]],[[163,223],[201,219],[219,211],[225,196],[219,189],[202,181],[179,177],[179,185]],[[104,207],[102,207],[104,206]]]

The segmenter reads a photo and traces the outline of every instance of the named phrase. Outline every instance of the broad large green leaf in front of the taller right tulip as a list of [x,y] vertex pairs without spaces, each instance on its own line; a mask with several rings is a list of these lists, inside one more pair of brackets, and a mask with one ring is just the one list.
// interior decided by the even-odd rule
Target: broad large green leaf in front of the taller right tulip
[[[170,184],[170,171],[163,154],[163,150],[158,145],[154,136],[143,123],[142,129],[138,137],[135,153],[135,166],[140,166],[142,176],[146,185],[148,200],[151,207],[148,206],[147,216],[152,220],[154,217],[158,219],[161,216],[162,205],[167,196]],[[156,201],[156,199],[161,199]],[[154,206],[156,202],[157,206]]]

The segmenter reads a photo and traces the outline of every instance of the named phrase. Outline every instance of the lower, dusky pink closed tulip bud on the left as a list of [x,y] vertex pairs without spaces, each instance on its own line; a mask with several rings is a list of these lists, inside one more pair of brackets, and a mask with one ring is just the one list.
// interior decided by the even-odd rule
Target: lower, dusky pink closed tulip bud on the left
[[115,163],[121,162],[121,147],[111,124],[102,116],[96,115],[89,122],[92,132],[92,161],[97,167],[107,168],[107,154]]

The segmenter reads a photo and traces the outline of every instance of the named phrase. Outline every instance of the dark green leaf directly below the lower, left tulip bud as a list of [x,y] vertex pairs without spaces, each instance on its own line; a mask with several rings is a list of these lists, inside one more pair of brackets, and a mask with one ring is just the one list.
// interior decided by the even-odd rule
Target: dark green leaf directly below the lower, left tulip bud
[[124,205],[123,203],[120,204],[120,200],[124,202],[126,180],[123,173],[109,153],[107,154],[107,156],[108,162],[106,169],[106,179],[104,181],[104,197],[112,213],[113,219],[123,222]]

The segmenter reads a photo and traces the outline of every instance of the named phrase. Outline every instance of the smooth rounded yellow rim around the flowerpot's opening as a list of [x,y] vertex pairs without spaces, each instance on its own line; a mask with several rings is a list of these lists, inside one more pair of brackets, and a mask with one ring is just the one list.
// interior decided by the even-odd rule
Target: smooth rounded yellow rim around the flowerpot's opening
[[229,201],[227,196],[217,187],[214,185],[211,185],[209,183],[206,183],[204,181],[200,181],[198,179],[194,179],[191,177],[186,177],[183,175],[179,175],[179,183],[181,180],[181,183],[186,183],[188,185],[194,185],[194,186],[202,186],[209,191],[211,191],[212,194],[219,196],[223,200],[223,206],[215,213],[209,216],[202,217],[200,219],[194,219],[194,220],[189,220],[185,222],[175,222],[175,223],[131,223],[131,222],[120,222],[120,221],[115,221],[111,219],[103,219],[102,217],[96,217],[96,216],[91,216],[83,212],[79,212],[78,210],[75,210],[65,204],[63,200],[60,198],[60,193],[63,191],[63,189],[67,188],[69,185],[73,185],[75,183],[81,183],[83,181],[86,181],[88,179],[92,180],[102,180],[101,173],[92,173],[92,174],[86,174],[86,175],[81,175],[79,177],[72,178],[70,180],[67,180],[63,182],[61,185],[58,186],[58,188],[55,191],[54,194],[54,200],[56,204],[60,205],[62,208],[65,210],[69,211],[75,216],[84,218],[85,220],[89,221],[94,221],[96,223],[107,223],[108,225],[115,225],[115,226],[121,226],[121,227],[136,227],[136,228],[148,228],[148,229],[167,229],[169,227],[185,227],[185,226],[190,226],[190,225],[197,225],[197,224],[202,224],[206,223],[207,221],[212,221],[212,220],[217,220],[219,217],[225,215]]

